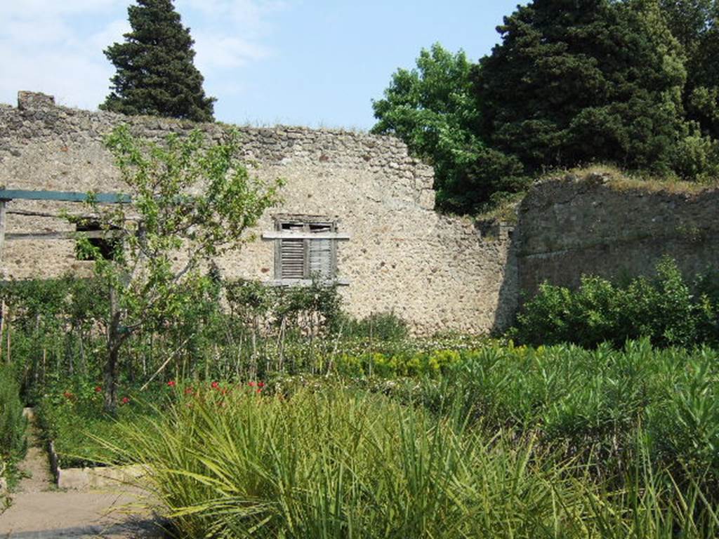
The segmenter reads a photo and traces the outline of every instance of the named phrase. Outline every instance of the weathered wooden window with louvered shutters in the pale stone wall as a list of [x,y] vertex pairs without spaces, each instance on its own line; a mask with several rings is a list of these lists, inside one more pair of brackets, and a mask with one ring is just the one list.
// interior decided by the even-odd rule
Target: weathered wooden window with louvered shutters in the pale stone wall
[[[336,275],[336,241],[327,238],[336,232],[333,222],[278,222],[278,231],[298,233],[301,239],[278,240],[278,267],[276,277],[280,280],[332,280]],[[312,236],[321,234],[314,239]]]

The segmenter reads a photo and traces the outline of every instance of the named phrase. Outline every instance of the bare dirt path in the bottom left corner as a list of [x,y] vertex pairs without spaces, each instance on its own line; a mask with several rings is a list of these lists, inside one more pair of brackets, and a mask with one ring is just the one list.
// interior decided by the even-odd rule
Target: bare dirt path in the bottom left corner
[[141,495],[129,487],[66,492],[56,489],[34,422],[29,429],[30,446],[20,466],[28,476],[12,495],[12,507],[0,515],[0,539],[162,536],[150,515],[128,507]]

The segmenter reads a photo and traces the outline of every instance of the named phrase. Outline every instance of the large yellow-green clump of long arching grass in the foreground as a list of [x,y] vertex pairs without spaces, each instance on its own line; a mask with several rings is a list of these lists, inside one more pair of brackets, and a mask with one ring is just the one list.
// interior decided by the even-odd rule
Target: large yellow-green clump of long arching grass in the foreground
[[[549,538],[595,527],[571,464],[382,395],[200,393],[127,429],[181,537]],[[161,509],[162,510],[162,509]]]

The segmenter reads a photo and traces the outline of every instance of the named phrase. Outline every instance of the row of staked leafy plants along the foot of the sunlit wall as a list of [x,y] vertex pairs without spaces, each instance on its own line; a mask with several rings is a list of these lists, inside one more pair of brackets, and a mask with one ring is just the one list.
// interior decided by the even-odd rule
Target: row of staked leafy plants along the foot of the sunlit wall
[[[184,294],[175,290],[173,317],[152,323],[156,318],[148,310],[145,323],[126,334],[116,364],[116,397],[151,380],[325,373],[336,367],[327,358],[362,358],[349,363],[368,367],[367,354],[423,352],[416,341],[408,343],[406,324],[391,313],[363,319],[344,313],[335,287],[227,282],[214,271],[199,282]],[[106,397],[110,300],[101,280],[4,282],[0,299],[6,305],[0,355],[17,369],[25,402],[39,402],[51,387],[60,394]],[[98,385],[103,392],[92,394]]]

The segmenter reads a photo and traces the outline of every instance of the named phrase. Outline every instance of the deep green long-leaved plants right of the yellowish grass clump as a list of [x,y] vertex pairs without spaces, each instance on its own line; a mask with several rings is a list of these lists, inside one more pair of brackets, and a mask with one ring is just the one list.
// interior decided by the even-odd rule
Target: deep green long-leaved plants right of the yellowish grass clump
[[[683,483],[719,492],[719,354],[656,349],[649,340],[594,350],[573,345],[467,351],[440,384],[418,384],[433,410],[446,395],[490,431],[533,433],[542,446],[625,478],[649,458]],[[719,496],[715,497],[719,501]]]

